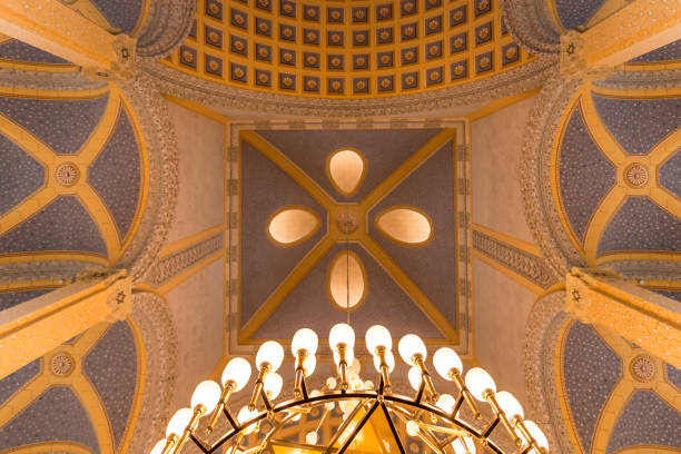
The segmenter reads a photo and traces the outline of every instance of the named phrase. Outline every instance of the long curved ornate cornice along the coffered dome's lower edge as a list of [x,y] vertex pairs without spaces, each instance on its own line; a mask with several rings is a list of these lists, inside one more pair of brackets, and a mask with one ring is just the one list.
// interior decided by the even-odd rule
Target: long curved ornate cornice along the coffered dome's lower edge
[[517,69],[463,86],[399,97],[356,100],[304,98],[240,89],[185,75],[150,59],[140,59],[140,69],[154,78],[164,93],[217,110],[356,118],[430,112],[529,91],[541,87],[554,63],[553,60],[537,59]]

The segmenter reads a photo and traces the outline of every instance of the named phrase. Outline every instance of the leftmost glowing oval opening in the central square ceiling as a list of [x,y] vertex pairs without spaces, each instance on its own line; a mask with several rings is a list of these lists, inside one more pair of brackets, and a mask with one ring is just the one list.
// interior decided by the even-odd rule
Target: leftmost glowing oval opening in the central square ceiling
[[319,225],[319,216],[309,208],[286,206],[269,217],[267,237],[277,246],[290,247],[312,237]]

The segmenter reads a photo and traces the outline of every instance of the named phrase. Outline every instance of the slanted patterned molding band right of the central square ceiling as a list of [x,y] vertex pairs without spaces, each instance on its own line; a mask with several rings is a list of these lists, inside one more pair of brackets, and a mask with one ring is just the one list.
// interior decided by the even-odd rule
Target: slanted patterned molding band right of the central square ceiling
[[551,268],[546,266],[543,258],[492,238],[482,231],[473,230],[473,247],[542,288],[549,288],[561,279],[551,273]]

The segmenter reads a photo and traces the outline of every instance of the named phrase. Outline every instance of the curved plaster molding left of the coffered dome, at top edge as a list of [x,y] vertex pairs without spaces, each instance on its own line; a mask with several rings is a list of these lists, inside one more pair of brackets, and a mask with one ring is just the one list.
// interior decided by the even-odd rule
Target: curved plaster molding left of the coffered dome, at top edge
[[170,55],[189,34],[195,7],[195,0],[151,1],[147,22],[137,39],[137,53],[152,58]]

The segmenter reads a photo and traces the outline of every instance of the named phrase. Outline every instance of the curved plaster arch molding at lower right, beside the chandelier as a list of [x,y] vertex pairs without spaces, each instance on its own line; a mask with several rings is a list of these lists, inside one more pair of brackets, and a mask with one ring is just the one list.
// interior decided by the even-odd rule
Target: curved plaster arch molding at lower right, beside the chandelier
[[565,292],[544,296],[534,304],[525,326],[525,388],[530,399],[525,414],[544,430],[551,452],[556,454],[574,452],[554,377],[557,336],[570,319],[564,304]]

